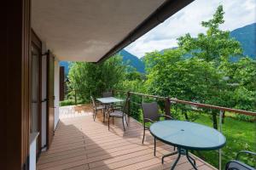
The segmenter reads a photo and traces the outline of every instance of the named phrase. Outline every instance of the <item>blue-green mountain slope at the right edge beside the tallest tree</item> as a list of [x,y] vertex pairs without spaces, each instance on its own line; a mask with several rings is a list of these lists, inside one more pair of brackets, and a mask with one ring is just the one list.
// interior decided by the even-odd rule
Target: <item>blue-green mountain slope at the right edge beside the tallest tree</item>
[[230,32],[230,36],[241,42],[243,54],[256,59],[256,23],[237,28]]

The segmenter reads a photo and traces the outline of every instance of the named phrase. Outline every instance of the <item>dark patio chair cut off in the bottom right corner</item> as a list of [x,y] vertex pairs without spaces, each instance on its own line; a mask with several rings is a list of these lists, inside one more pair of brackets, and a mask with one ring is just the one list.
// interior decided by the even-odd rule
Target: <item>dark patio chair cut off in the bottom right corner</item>
[[251,167],[251,166],[245,164],[244,162],[241,162],[238,160],[238,158],[241,154],[256,156],[256,153],[254,153],[252,151],[241,150],[236,155],[236,160],[231,160],[226,164],[225,170],[255,170],[254,167]]

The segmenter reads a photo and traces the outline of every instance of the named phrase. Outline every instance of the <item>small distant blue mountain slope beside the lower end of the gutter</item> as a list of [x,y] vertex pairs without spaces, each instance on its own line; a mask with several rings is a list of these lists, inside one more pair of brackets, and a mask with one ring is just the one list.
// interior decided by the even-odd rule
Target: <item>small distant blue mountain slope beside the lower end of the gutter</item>
[[129,53],[125,49],[122,49],[119,54],[123,57],[124,63],[133,66],[139,72],[145,72],[145,65],[141,59],[137,58],[137,56]]

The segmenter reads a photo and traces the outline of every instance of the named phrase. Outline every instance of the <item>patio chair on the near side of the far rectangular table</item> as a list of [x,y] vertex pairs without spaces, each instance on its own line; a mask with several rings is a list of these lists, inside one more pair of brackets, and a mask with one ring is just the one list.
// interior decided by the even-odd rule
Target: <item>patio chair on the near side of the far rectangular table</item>
[[119,108],[113,108],[108,112],[108,130],[109,130],[109,119],[110,119],[110,117],[112,117],[112,120],[114,118],[121,118],[122,119],[124,131],[125,131],[125,122],[126,122],[126,125],[128,127],[128,122],[127,122],[127,117],[126,116],[128,115],[128,104],[129,104],[129,102],[130,102],[130,98],[127,98],[127,99],[125,99],[124,105],[122,105],[122,107],[120,109]]

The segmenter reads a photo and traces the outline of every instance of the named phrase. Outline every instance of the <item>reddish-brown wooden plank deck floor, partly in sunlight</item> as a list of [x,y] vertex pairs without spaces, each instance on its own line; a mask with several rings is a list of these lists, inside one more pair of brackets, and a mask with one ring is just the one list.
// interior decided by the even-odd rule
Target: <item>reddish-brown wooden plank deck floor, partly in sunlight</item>
[[[66,111],[67,109],[67,111]],[[142,144],[143,127],[134,119],[129,119],[129,127],[124,133],[119,119],[102,123],[99,113],[93,121],[88,106],[60,109],[61,120],[49,150],[42,152],[37,169],[170,169],[176,156],[166,158],[162,165],[163,154],[172,152],[173,147],[157,142],[157,155],[154,157],[154,140],[147,133]],[[199,169],[214,169],[196,158]],[[184,157],[175,169],[192,169]]]

